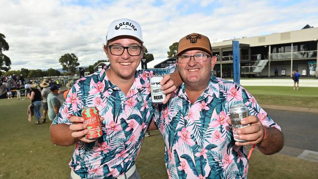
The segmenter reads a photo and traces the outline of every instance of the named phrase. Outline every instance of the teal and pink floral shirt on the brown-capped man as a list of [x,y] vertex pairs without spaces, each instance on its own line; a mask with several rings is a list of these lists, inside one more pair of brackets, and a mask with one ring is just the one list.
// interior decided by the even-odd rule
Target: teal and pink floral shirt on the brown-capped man
[[169,179],[247,178],[247,151],[234,145],[227,123],[237,103],[245,103],[263,125],[281,130],[247,90],[213,75],[193,104],[183,84],[167,104],[158,105],[154,121],[164,138]]

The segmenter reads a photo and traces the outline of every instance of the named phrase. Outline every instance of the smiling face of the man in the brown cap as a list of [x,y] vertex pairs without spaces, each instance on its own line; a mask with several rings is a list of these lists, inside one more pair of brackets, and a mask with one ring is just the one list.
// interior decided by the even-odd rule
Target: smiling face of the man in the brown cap
[[[180,55],[196,55],[208,54],[202,50],[188,50]],[[215,59],[207,57],[205,62],[196,62],[193,57],[186,64],[181,64],[177,61],[178,71],[186,86],[205,88],[211,76],[211,68],[215,65]]]

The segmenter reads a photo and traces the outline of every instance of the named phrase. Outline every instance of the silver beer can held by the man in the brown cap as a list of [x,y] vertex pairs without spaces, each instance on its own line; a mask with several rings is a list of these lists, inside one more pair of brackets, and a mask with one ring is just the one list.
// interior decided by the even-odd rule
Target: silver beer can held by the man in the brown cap
[[241,120],[243,118],[249,116],[248,107],[245,104],[242,104],[242,103],[234,105],[229,110],[229,114],[230,114],[231,122],[232,122],[232,131],[233,131],[234,140],[238,141],[238,142],[247,142],[246,140],[238,139],[238,134],[236,133],[236,131],[239,128],[244,128],[246,126],[250,126],[250,124],[248,124],[248,125],[242,125],[241,124]]

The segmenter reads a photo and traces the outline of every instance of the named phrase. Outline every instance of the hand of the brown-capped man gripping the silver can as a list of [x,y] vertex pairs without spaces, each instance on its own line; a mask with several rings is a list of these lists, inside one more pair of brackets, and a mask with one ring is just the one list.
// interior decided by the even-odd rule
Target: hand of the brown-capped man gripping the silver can
[[[231,120],[227,119],[227,123],[231,125]],[[247,142],[235,142],[235,145],[253,145],[260,143],[265,135],[264,127],[261,121],[255,115],[250,115],[243,120],[241,120],[242,125],[250,124],[250,126],[240,128],[237,130],[237,134],[239,134],[240,140],[247,140]]]

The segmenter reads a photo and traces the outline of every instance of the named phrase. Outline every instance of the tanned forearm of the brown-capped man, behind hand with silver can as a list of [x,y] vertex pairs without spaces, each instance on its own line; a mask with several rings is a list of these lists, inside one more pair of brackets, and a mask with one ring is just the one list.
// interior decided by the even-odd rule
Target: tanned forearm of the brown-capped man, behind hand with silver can
[[279,152],[284,146],[284,136],[276,128],[264,128],[266,130],[266,138],[259,144],[257,148],[263,154],[272,155]]

